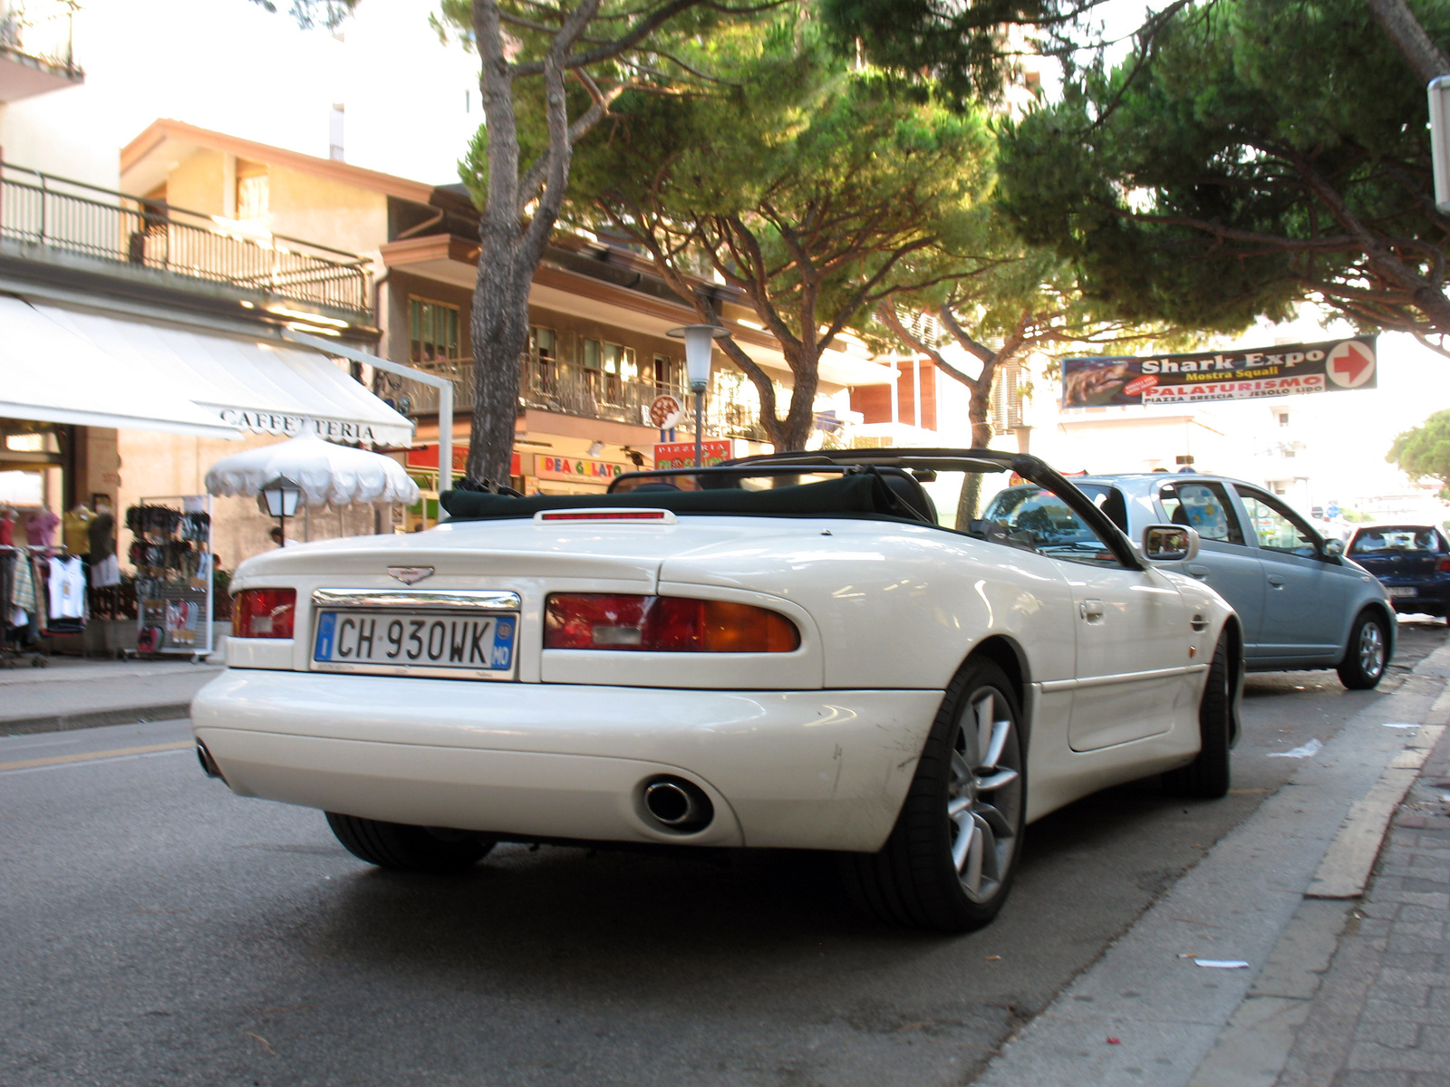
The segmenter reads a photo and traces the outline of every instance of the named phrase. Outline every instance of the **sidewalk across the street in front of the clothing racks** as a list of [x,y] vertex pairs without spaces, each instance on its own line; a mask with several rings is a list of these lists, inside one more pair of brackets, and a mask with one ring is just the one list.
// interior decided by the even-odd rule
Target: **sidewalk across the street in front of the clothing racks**
[[78,657],[52,657],[45,668],[0,668],[0,736],[186,717],[191,697],[220,670]]

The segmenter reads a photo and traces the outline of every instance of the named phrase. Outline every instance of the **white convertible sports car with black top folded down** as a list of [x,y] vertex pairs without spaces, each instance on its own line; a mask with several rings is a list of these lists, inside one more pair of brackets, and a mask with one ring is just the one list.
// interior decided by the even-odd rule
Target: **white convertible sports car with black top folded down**
[[[1021,487],[1022,481],[1034,487]],[[1014,486],[960,528],[957,496]],[[248,559],[203,768],[387,868],[499,841],[828,849],[874,915],[989,922],[1025,823],[1228,788],[1243,636],[1032,457],[784,454]]]

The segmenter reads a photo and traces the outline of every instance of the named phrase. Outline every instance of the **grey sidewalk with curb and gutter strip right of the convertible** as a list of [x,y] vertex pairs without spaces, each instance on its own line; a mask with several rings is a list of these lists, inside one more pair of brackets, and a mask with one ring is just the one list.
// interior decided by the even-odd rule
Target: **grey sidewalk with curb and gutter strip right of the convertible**
[[1447,681],[1441,646],[1025,1025],[979,1087],[1450,1084]]

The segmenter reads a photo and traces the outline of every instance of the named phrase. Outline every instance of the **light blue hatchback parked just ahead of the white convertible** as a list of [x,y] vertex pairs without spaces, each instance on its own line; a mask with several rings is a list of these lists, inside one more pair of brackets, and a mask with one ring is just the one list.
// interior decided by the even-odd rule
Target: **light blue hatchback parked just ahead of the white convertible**
[[1248,671],[1334,668],[1354,690],[1375,687],[1385,674],[1395,652],[1385,588],[1282,499],[1218,475],[1073,481],[1130,538],[1160,522],[1198,530],[1198,555],[1166,568],[1212,586],[1234,606]]

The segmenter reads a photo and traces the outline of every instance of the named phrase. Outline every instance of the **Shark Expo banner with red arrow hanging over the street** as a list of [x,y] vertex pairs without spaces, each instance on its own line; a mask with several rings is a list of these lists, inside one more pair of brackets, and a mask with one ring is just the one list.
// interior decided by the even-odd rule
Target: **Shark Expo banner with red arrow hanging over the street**
[[1063,359],[1063,407],[1186,404],[1375,388],[1375,336],[1251,351]]

